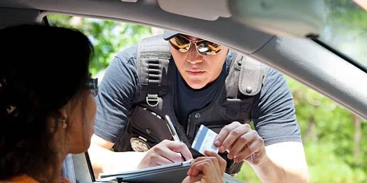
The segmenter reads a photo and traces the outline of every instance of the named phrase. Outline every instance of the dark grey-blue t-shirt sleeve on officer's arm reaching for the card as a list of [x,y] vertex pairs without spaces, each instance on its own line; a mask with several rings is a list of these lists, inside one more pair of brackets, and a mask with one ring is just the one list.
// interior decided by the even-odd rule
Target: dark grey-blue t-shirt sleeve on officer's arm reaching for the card
[[280,72],[269,68],[261,93],[252,105],[251,116],[265,146],[279,142],[302,142],[292,93]]

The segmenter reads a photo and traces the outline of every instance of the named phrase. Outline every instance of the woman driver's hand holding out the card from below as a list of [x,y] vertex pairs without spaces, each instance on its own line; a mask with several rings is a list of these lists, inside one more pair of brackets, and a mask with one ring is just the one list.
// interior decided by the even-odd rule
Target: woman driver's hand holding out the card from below
[[227,162],[215,152],[204,153],[207,157],[198,157],[190,164],[188,176],[182,183],[223,183]]

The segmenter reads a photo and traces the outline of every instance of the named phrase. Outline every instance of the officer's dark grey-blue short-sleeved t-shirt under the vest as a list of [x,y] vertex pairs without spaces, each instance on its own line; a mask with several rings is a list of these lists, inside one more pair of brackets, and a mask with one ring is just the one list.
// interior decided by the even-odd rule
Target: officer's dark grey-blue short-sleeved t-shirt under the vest
[[[221,75],[205,89],[192,90],[185,85],[181,77],[178,77],[175,98],[177,98],[176,104],[180,105],[174,105],[174,108],[175,113],[179,113],[177,117],[180,123],[187,122],[191,111],[203,108],[213,100],[219,88],[216,83],[220,82],[217,81],[225,79],[228,74],[231,54],[232,51],[227,54]],[[107,68],[99,85],[95,134],[112,143],[121,137],[135,101],[140,95],[136,57],[137,45],[120,52]],[[185,98],[179,97],[183,95]],[[269,68],[260,96],[255,98],[252,105],[251,118],[255,130],[264,139],[265,145],[302,142],[292,94],[280,72]]]

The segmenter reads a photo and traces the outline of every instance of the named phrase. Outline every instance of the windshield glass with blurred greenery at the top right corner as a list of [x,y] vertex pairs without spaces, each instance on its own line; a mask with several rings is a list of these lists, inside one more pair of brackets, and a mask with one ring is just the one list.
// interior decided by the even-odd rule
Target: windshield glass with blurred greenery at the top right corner
[[319,40],[367,66],[367,11],[352,0],[325,0],[325,7]]

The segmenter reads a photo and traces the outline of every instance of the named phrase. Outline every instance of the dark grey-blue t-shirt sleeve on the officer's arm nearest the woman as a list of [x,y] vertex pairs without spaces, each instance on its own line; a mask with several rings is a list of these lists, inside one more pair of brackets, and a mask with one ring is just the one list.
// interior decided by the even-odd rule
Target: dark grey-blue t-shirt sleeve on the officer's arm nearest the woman
[[135,46],[113,59],[98,89],[94,133],[112,143],[121,136],[140,89],[134,51]]

